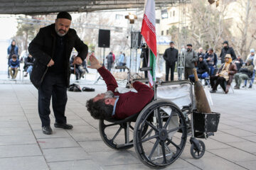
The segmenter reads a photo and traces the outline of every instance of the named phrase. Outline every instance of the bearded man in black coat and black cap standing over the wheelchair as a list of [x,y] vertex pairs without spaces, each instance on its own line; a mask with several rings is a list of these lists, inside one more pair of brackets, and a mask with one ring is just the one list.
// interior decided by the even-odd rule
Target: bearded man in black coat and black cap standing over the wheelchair
[[75,47],[78,56],[74,64],[82,64],[88,47],[76,31],[70,28],[68,12],[58,13],[55,23],[41,28],[29,47],[29,53],[36,59],[31,73],[31,82],[38,89],[38,112],[44,134],[50,135],[50,98],[52,97],[55,128],[72,129],[67,124],[65,106],[68,101],[67,87],[70,83],[70,54]]

